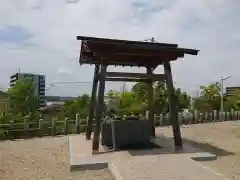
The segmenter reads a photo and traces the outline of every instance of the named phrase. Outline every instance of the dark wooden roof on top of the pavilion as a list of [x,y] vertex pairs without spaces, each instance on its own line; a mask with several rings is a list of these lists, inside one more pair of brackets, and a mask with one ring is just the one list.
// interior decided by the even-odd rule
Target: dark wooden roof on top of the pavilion
[[79,63],[157,67],[163,61],[174,61],[199,50],[179,48],[177,44],[127,41],[77,36],[81,40]]

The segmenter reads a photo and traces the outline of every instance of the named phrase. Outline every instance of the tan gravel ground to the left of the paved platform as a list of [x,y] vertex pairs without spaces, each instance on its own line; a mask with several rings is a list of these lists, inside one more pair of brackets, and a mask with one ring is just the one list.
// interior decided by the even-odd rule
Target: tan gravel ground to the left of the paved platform
[[0,180],[113,180],[107,169],[69,172],[68,138],[0,142]]

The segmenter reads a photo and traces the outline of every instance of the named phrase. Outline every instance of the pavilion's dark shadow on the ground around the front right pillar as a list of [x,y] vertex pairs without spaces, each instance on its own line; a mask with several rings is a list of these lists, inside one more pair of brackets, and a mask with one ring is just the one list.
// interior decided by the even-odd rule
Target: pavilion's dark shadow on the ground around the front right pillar
[[143,150],[128,150],[132,156],[143,156],[143,155],[158,155],[158,154],[184,154],[184,153],[201,153],[209,152],[216,156],[231,156],[233,152],[226,151],[219,147],[216,147],[210,143],[201,143],[189,139],[183,139],[183,148],[176,149],[173,143],[173,139],[158,135],[154,140],[154,143],[158,145],[158,148],[143,149]]

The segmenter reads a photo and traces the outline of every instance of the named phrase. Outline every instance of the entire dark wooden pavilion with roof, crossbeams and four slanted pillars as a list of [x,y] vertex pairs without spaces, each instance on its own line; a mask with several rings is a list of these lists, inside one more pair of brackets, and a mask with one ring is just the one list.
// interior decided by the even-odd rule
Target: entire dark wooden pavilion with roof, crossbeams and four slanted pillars
[[[175,146],[182,147],[170,62],[178,58],[183,58],[185,54],[197,55],[199,50],[179,48],[177,44],[126,41],[84,36],[77,36],[77,40],[81,40],[79,63],[81,65],[95,65],[92,98],[86,132],[86,139],[89,140],[91,138],[93,117],[95,117],[96,126],[93,136],[93,153],[97,152],[99,149],[106,81],[146,82],[149,85],[148,119],[152,126],[152,137],[155,137],[154,114],[152,108],[153,82],[165,81],[168,89],[169,120],[173,129],[174,143]],[[146,73],[107,72],[108,65],[145,67]],[[163,65],[164,74],[153,73],[159,65]],[[99,88],[98,95],[96,96],[98,82]]]

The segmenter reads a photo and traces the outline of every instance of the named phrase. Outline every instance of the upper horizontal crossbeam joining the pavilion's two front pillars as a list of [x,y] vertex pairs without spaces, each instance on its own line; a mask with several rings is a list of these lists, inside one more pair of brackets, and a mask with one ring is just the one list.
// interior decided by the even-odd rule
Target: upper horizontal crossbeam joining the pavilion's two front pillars
[[143,73],[123,73],[123,72],[107,72],[106,77],[118,77],[118,78],[145,78],[153,81],[165,80],[165,74],[143,74]]

